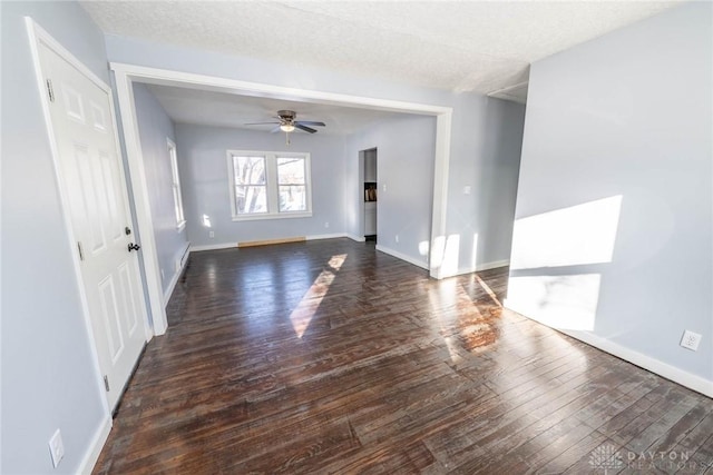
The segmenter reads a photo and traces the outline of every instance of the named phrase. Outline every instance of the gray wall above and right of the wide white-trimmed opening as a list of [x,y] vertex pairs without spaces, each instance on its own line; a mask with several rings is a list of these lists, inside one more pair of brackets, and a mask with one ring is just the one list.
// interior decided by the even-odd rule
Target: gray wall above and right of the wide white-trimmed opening
[[[495,123],[502,123],[500,116],[495,113],[495,119],[490,120],[489,113],[494,110],[491,103],[500,103],[497,99],[486,99],[478,95],[457,95],[448,91],[428,89],[403,83],[389,82],[383,80],[359,78],[353,75],[344,75],[334,71],[314,68],[294,68],[290,65],[275,63],[265,60],[241,58],[201,51],[188,48],[158,44],[148,41],[136,40],[133,38],[107,36],[107,53],[111,61],[126,62],[154,68],[164,68],[170,70],[195,72],[208,76],[218,76],[244,81],[268,82],[277,86],[294,87],[299,89],[313,89],[320,91],[329,91],[336,93],[346,93],[353,96],[363,96],[372,98],[384,98],[393,100],[403,100],[408,102],[429,103],[437,106],[446,106],[453,108],[453,129],[451,135],[451,157],[450,157],[450,184],[448,198],[448,220],[447,229],[450,235],[462,235],[460,246],[462,251],[456,251],[456,263],[453,273],[467,271],[471,269],[472,259],[472,236],[468,235],[478,232],[479,245],[478,254],[482,253],[482,264],[507,259],[507,254],[502,251],[502,243],[508,241],[511,226],[511,210],[508,216],[502,214],[502,222],[496,231],[490,236],[491,220],[495,214],[479,215],[478,210],[487,207],[489,204],[498,204],[499,197],[507,197],[514,190],[516,181],[514,174],[514,161],[517,159],[514,148],[519,144],[519,131],[521,130],[521,121],[508,123],[506,135],[510,139],[505,140],[509,144],[501,152],[492,152],[497,142],[492,142],[488,138],[488,127]],[[494,106],[496,109],[498,106]],[[508,106],[505,106],[508,108]],[[510,118],[517,120],[520,106],[515,108]],[[180,146],[180,130],[176,130],[179,140],[179,150],[185,152],[185,148]],[[296,148],[295,148],[296,149]],[[490,151],[489,151],[490,150]],[[491,155],[495,154],[495,155]],[[505,158],[505,155],[508,155]],[[497,158],[495,158],[497,157]],[[507,165],[495,165],[492,160],[506,160]],[[488,165],[490,164],[490,165]],[[511,172],[508,178],[498,181],[488,181],[486,177],[489,167],[502,167],[505,175]],[[501,174],[501,175],[502,175]],[[471,195],[462,194],[462,180],[467,177],[471,186]],[[486,180],[482,186],[480,180]],[[499,182],[501,181],[501,182]],[[504,208],[505,210],[507,206]],[[345,209],[344,212],[351,212]],[[380,221],[381,222],[381,221]],[[430,220],[429,220],[430,225]],[[505,229],[505,230],[502,230]],[[502,236],[499,235],[502,232]],[[194,241],[194,234],[189,229],[188,237]],[[470,239],[470,244],[468,244]],[[216,241],[217,235],[216,235]],[[202,241],[197,241],[199,244]],[[498,243],[494,251],[489,250],[489,246]],[[478,265],[478,263],[476,263]]]

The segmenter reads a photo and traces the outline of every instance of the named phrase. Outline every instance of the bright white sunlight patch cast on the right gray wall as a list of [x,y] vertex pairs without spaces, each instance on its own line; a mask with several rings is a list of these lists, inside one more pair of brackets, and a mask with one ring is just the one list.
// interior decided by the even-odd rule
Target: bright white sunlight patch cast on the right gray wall
[[621,208],[617,195],[518,219],[506,307],[554,328],[594,330],[596,267],[614,258]]

